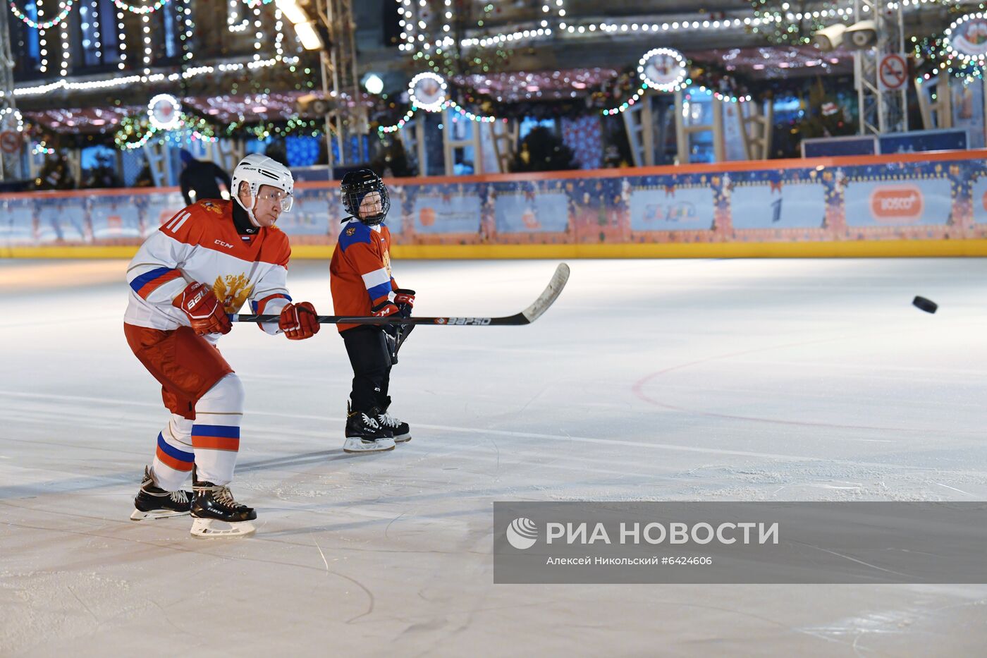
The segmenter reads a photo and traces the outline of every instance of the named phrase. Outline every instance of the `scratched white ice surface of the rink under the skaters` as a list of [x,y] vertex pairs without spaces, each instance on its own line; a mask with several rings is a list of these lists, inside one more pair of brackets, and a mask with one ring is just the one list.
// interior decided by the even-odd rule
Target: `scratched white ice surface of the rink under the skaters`
[[[395,275],[499,315],[555,265]],[[496,500],[987,500],[987,261],[569,265],[530,326],[415,331],[394,452],[342,452],[334,327],[236,326],[259,530],[206,540],[128,520],[166,414],[125,263],[0,261],[0,655],[983,655],[987,586],[494,586],[491,553]],[[328,263],[289,285],[332,312]]]

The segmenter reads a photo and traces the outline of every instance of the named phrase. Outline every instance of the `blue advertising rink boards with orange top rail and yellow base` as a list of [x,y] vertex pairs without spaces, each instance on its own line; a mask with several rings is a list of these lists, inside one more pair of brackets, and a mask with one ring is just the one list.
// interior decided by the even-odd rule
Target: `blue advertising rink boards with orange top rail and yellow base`
[[[387,181],[405,259],[987,256],[985,150]],[[337,182],[278,226],[328,259]],[[129,258],[174,188],[0,195],[0,258]]]

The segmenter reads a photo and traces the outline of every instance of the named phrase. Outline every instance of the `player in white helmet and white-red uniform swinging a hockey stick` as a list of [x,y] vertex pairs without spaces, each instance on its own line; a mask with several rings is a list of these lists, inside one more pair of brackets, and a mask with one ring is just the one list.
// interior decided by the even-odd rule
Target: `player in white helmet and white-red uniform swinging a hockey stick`
[[[257,513],[227,486],[240,447],[244,387],[216,347],[245,301],[278,314],[261,325],[289,340],[319,331],[315,308],[293,303],[285,286],[291,249],[274,226],[291,209],[287,167],[260,154],[233,172],[235,201],[186,207],[140,247],[127,269],[127,344],[162,386],[172,413],[134,499],[131,519],[191,514],[191,534],[247,535]],[[182,491],[191,473],[192,493]],[[221,522],[221,523],[217,523]]]

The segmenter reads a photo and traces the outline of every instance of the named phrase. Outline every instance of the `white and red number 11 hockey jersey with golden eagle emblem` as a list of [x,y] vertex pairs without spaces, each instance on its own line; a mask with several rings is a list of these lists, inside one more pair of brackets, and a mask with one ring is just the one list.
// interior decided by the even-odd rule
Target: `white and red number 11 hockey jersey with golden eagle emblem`
[[[237,233],[233,202],[192,204],[162,224],[130,261],[123,321],[165,331],[188,326],[172,299],[191,282],[212,288],[227,313],[250,301],[254,313],[277,315],[291,301],[285,284],[290,257],[287,236],[273,226],[249,239]],[[276,322],[262,328],[279,333]]]

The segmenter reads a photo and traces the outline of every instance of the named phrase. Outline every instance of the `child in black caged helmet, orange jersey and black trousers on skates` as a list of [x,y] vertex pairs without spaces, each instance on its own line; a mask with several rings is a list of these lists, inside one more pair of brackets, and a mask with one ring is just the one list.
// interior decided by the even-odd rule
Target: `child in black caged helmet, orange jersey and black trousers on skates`
[[[340,184],[343,219],[330,264],[330,286],[337,315],[408,317],[415,290],[398,288],[391,276],[391,231],[384,224],[391,202],[383,181],[369,169],[349,172]],[[408,423],[392,416],[387,394],[396,363],[401,325],[337,325],[353,368],[346,404],[344,452],[394,450],[411,441]],[[413,325],[408,325],[411,327]]]

